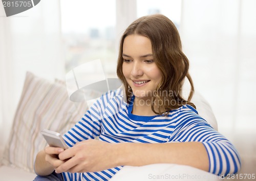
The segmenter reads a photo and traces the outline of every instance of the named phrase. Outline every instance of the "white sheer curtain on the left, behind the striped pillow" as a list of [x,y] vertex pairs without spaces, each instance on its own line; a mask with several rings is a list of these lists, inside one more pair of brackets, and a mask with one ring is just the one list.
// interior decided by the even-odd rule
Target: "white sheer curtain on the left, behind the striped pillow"
[[8,139],[26,72],[46,79],[65,77],[59,14],[58,0],[41,1],[10,17],[0,6],[1,145]]

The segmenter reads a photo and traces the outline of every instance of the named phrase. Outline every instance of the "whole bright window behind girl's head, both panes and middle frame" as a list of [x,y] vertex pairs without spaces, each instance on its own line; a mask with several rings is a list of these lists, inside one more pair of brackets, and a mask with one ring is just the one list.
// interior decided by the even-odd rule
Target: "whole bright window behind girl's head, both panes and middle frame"
[[61,29],[66,73],[85,62],[100,59],[107,77],[116,77],[118,42],[136,18],[162,13],[179,28],[181,0],[68,0],[61,2]]

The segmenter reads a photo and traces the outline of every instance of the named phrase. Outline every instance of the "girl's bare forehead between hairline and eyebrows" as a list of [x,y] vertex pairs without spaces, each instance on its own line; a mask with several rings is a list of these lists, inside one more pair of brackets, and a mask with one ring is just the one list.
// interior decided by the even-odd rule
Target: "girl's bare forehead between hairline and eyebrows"
[[128,35],[123,41],[123,54],[131,56],[153,54],[151,40],[142,35]]

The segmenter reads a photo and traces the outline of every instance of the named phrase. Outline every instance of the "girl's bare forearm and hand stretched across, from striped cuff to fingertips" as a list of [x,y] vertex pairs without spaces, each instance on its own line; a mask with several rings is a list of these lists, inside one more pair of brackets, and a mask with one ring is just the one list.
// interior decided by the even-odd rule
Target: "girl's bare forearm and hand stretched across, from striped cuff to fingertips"
[[186,143],[106,143],[96,140],[80,142],[59,154],[67,162],[55,171],[96,172],[117,166],[143,166],[155,163],[189,165],[205,171],[209,161],[200,142]]

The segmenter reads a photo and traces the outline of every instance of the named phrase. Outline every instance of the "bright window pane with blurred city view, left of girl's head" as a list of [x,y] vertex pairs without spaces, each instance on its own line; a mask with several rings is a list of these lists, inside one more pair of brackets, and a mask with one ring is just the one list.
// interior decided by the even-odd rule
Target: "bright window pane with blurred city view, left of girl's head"
[[63,0],[61,30],[66,54],[66,72],[100,59],[105,74],[115,66],[115,0]]

